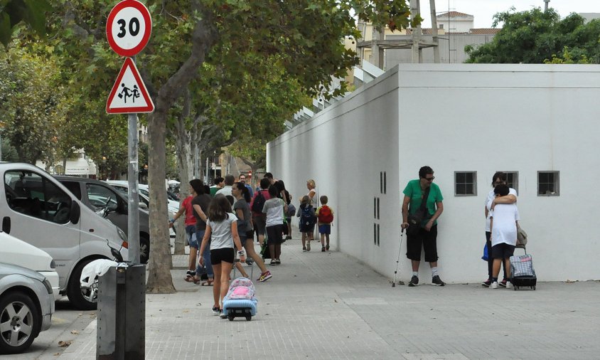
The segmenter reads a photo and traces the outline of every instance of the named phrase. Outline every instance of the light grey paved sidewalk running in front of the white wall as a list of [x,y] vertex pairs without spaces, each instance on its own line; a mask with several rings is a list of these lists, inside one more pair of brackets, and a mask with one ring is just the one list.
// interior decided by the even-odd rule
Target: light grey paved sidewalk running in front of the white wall
[[[541,282],[536,291],[435,287],[430,279],[391,287],[343,253],[321,253],[316,243],[302,253],[296,239],[297,229],[282,265],[267,265],[272,279],[256,283],[251,322],[214,317],[212,287],[172,270],[178,292],[146,297],[146,359],[600,358],[600,282]],[[176,268],[186,261],[173,256]],[[60,359],[95,359],[95,326]]]

